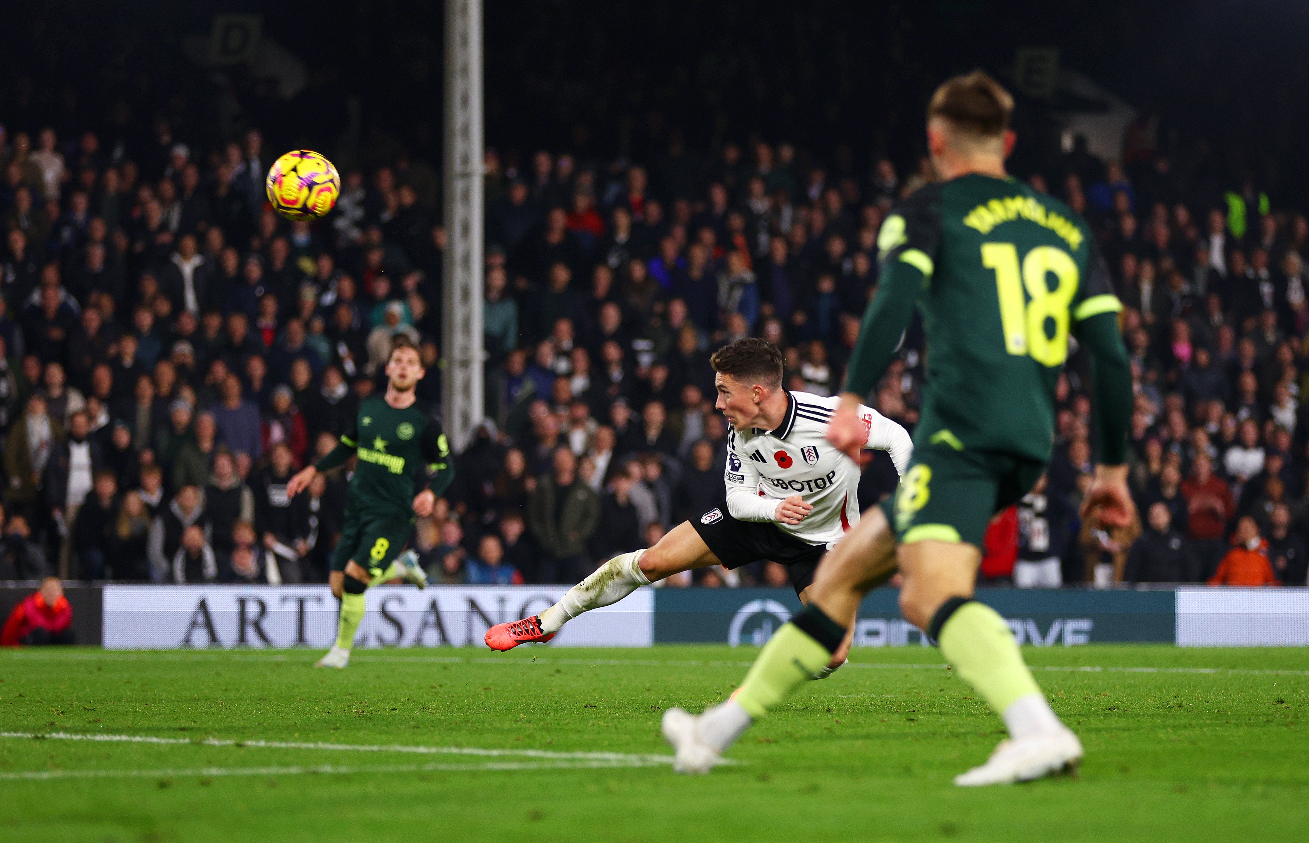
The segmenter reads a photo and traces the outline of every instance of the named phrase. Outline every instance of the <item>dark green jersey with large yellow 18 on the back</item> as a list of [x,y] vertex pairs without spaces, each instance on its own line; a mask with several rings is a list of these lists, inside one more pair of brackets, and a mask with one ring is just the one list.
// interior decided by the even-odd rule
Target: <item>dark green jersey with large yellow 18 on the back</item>
[[[1086,224],[1021,182],[971,174],[901,203],[877,246],[877,300],[906,302],[882,301],[884,310],[903,310],[901,329],[914,301],[923,314],[927,385],[915,444],[1046,459],[1069,331],[1122,309]],[[876,327],[885,334],[894,323]],[[865,318],[864,332],[870,327]],[[850,391],[872,390],[894,343],[860,336]]]

